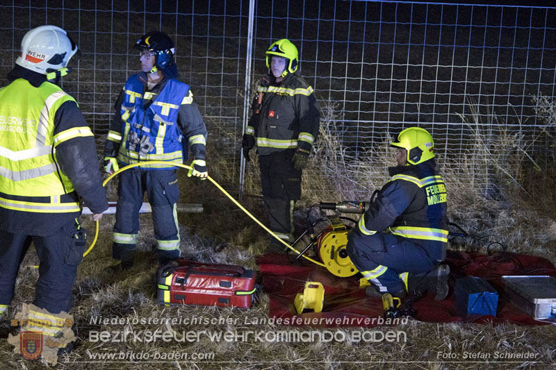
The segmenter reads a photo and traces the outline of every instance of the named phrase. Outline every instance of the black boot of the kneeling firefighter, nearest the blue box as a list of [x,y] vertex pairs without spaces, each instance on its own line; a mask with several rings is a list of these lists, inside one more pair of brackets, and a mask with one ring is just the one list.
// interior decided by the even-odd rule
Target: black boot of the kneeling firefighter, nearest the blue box
[[435,301],[442,301],[448,296],[448,278],[450,267],[448,264],[439,264],[431,271],[422,273],[409,273],[407,283],[409,293],[418,295],[431,292]]

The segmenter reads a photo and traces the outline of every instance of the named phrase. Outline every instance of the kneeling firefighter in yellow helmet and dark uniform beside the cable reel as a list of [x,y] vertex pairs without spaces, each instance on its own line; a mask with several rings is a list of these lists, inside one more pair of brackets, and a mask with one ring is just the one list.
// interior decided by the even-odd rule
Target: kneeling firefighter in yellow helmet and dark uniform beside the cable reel
[[371,284],[368,296],[432,292],[448,294],[446,188],[434,160],[432,136],[423,128],[406,128],[392,146],[398,148],[391,180],[347,240],[347,254]]

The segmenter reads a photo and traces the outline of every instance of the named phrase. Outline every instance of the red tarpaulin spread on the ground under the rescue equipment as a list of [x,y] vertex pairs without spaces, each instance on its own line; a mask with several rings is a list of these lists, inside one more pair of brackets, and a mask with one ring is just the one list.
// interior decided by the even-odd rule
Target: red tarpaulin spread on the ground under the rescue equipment
[[[380,298],[368,298],[365,289],[359,287],[356,277],[338,278],[325,268],[304,260],[291,264],[285,254],[269,253],[256,258],[261,270],[263,289],[270,295],[269,317],[281,318],[281,323],[312,326],[376,326],[377,320],[367,323],[365,318],[382,317]],[[505,296],[503,275],[549,275],[556,276],[550,261],[532,255],[505,253],[505,255],[482,255],[448,251],[445,263],[450,265],[450,294],[444,301],[434,301],[426,294],[414,303],[415,319],[426,322],[469,321],[476,323],[501,323],[508,321],[521,325],[543,325],[510,303]],[[486,279],[498,291],[496,317],[461,317],[454,301],[454,285],[457,278],[479,276]],[[306,281],[317,281],[325,287],[322,312],[295,314],[295,295],[303,292]],[[302,321],[303,319],[303,321]],[[309,319],[311,321],[309,321]],[[317,324],[315,324],[317,323]]]

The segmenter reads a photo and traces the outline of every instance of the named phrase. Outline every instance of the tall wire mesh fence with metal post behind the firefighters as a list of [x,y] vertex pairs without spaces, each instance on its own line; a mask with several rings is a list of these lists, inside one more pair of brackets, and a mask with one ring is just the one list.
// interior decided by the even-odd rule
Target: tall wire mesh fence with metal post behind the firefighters
[[[430,130],[441,161],[457,163],[469,160],[477,133],[496,145],[500,132],[535,137],[546,125],[533,97],[552,99],[555,92],[555,7],[264,0],[254,1],[251,19],[249,8],[250,0],[1,1],[2,14],[11,16],[0,25],[0,73],[13,66],[28,29],[65,28],[82,56],[63,87],[101,150],[117,94],[140,67],[133,44],[148,31],[168,33],[232,191],[240,176],[245,85],[267,72],[264,51],[279,38],[297,45],[302,76],[322,107],[334,107],[323,111],[333,115],[348,162],[382,165],[373,158],[377,146],[407,126]],[[367,194],[364,183],[354,190]]]

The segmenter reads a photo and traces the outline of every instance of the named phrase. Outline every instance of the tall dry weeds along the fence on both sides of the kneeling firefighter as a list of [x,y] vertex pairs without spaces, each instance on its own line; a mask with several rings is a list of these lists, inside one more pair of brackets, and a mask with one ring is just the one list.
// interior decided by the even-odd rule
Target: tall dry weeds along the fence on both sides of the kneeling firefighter
[[[541,168],[537,163],[534,148],[539,136],[530,135],[520,124],[510,131],[499,125],[492,112],[481,115],[477,105],[471,104],[469,111],[461,119],[473,142],[460,153],[446,151],[445,158],[436,157],[448,189],[450,221],[471,234],[452,238],[450,246],[486,253],[488,246],[500,249],[502,245],[507,251],[542,255],[556,262],[556,223],[551,212],[556,209],[556,177],[550,166]],[[553,108],[545,111],[553,112]],[[334,103],[324,104],[323,113],[316,153],[309,171],[304,172],[302,204],[367,201],[373,190],[389,180],[387,167],[395,165],[389,140],[385,137],[365,155],[352,158],[341,141]],[[491,121],[481,121],[482,117]],[[541,186],[544,192],[539,191]]]

